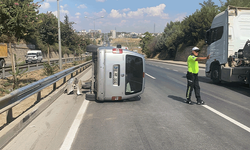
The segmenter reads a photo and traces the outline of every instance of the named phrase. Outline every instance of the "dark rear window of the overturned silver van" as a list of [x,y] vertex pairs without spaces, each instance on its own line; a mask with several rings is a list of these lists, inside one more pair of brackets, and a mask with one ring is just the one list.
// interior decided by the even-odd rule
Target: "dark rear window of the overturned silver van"
[[143,60],[140,57],[126,55],[126,88],[125,94],[135,94],[142,91]]

